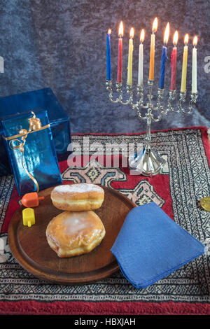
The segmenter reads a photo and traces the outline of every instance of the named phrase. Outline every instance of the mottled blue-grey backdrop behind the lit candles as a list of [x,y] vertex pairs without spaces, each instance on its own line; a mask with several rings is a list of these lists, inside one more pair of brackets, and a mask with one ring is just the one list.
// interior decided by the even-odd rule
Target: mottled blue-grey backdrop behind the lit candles
[[[148,76],[151,27],[159,18],[155,54],[155,78],[160,72],[165,25],[172,35],[179,29],[177,86],[181,83],[183,36],[190,34],[188,90],[191,89],[192,40],[197,34],[197,106],[190,116],[169,113],[153,129],[209,125],[209,80],[204,72],[209,45],[209,1],[200,0],[6,0],[0,3],[0,55],[5,72],[0,74],[1,96],[51,87],[71,118],[72,132],[140,132],[145,123],[128,106],[111,104],[106,92],[106,31],[111,27],[113,81],[116,80],[118,24],[123,20],[123,78],[126,82],[127,45],[134,27],[134,83],[137,83],[139,31],[146,29],[144,77]],[[165,87],[169,87],[170,59]]]

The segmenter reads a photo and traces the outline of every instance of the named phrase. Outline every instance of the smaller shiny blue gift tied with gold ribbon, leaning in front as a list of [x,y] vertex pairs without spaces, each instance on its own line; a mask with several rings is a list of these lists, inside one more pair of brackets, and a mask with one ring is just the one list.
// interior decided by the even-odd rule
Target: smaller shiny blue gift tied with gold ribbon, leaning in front
[[1,120],[1,130],[19,195],[62,183],[47,111]]

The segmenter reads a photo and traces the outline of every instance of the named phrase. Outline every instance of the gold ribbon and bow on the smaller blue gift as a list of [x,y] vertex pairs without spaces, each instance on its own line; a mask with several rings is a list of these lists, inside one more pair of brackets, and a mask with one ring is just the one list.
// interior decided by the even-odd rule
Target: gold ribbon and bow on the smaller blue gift
[[[19,134],[17,135],[13,135],[10,137],[4,137],[3,138],[6,141],[9,141],[9,147],[11,150],[20,150],[20,152],[22,153],[22,167],[25,169],[25,172],[27,173],[27,175],[30,177],[30,179],[32,181],[34,181],[34,184],[36,186],[36,192],[38,193],[39,191],[39,186],[38,186],[38,182],[36,181],[36,179],[34,178],[34,176],[32,176],[27,168],[24,165],[23,162],[23,153],[25,151],[24,146],[25,146],[25,142],[27,139],[28,134],[31,134],[32,132],[38,132],[40,130],[46,129],[48,127],[50,127],[50,124],[45,125],[45,126],[41,126],[41,122],[39,118],[36,118],[36,115],[34,112],[31,112],[33,114],[32,118],[29,118],[29,131],[27,131],[26,129],[22,129],[20,130]],[[19,137],[21,137],[21,140],[18,139]],[[15,142],[18,142],[18,145],[15,145]]]

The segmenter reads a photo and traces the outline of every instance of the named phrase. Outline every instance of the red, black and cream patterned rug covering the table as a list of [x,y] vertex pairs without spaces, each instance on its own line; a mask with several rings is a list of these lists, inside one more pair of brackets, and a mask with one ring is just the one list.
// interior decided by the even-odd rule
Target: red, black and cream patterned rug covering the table
[[[125,147],[143,139],[144,134],[73,135],[73,144],[80,146],[83,161],[80,167],[59,163],[64,183],[111,186],[137,205],[154,201],[197,239],[202,242],[210,239],[209,213],[197,204],[202,197],[210,195],[207,128],[153,132],[153,145],[166,164],[152,178],[130,175],[130,170],[122,166],[123,156],[120,167],[111,163],[103,167],[102,158],[95,155],[97,145]],[[92,150],[88,159],[87,147]],[[113,161],[114,151],[109,155]],[[55,285],[36,279],[18,265],[8,246],[8,223],[20,199],[12,176],[0,178],[0,197],[0,230],[4,240],[4,253],[0,254],[0,314],[210,314],[210,256],[207,254],[142,290],[134,288],[120,272],[84,286]]]

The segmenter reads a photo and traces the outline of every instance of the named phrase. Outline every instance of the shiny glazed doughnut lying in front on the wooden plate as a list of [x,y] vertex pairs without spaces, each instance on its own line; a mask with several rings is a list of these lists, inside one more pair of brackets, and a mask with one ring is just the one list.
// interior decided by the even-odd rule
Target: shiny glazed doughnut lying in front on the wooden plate
[[104,238],[105,228],[94,211],[64,211],[46,229],[48,244],[59,257],[90,253]]

